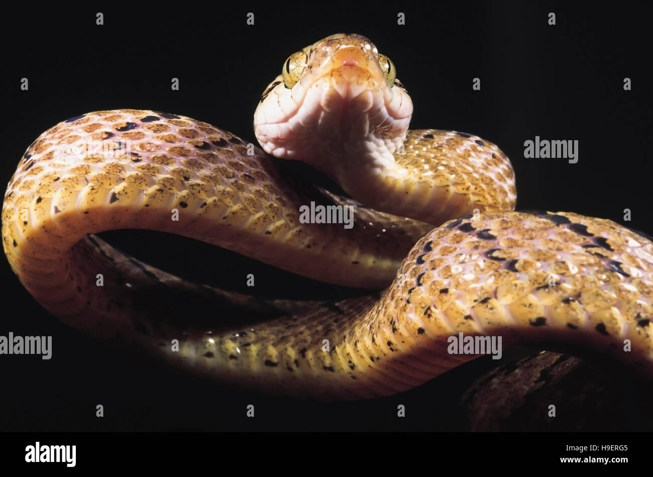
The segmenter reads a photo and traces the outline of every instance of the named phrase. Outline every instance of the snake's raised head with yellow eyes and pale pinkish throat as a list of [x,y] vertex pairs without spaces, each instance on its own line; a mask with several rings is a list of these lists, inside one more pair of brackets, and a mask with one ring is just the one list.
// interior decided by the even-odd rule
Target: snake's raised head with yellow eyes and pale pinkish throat
[[268,154],[301,159],[334,176],[343,167],[334,157],[378,149],[391,160],[412,113],[392,61],[366,37],[338,33],[286,59],[263,93],[254,129]]

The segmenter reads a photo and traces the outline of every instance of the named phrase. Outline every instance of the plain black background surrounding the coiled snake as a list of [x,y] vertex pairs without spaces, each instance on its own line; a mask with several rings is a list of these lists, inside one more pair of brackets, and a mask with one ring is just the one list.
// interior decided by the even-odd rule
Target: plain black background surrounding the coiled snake
[[[16,8],[5,16],[1,33],[5,140],[0,180],[9,180],[42,131],[94,110],[183,114],[253,141],[253,112],[287,56],[332,33],[360,33],[394,61],[415,103],[411,127],[473,133],[511,158],[518,209],[579,212],[653,233],[650,37],[647,12],[638,4]],[[98,11],[104,13],[101,26],[95,24]],[[255,25],[246,24],[250,11]],[[406,25],[397,24],[398,11],[406,14]],[[547,23],[549,12],[556,13],[556,25]],[[29,91],[20,90],[24,77]],[[180,79],[179,91],[170,89],[173,77]],[[475,77],[481,78],[481,91],[471,88]],[[624,77],[631,78],[631,91],[624,91]],[[524,140],[536,135],[579,140],[578,163],[524,159]],[[624,208],[631,210],[631,222],[623,221]],[[126,246],[117,234],[110,237]],[[160,252],[137,249],[136,244],[130,251],[146,261],[156,261],[153,255]],[[171,261],[157,265],[235,289],[229,271],[246,269],[242,274],[254,272],[257,291],[266,296],[318,293],[313,282],[226,252],[216,251],[212,261],[198,258],[193,271],[175,270],[180,265],[174,257]],[[0,335],[52,335],[54,347],[50,361],[0,356],[0,430],[465,430],[456,400],[492,365],[479,360],[377,401],[317,404],[270,398],[106,348],[44,312],[6,261],[0,273],[6,307]],[[624,393],[624,408],[631,406],[626,393],[633,389],[614,392]],[[95,418],[96,404],[104,405],[103,419]],[[246,404],[256,405],[255,419],[245,418]],[[396,418],[397,404],[406,404],[405,419]],[[637,409],[632,413],[637,423]],[[624,427],[652,427],[631,424]]]

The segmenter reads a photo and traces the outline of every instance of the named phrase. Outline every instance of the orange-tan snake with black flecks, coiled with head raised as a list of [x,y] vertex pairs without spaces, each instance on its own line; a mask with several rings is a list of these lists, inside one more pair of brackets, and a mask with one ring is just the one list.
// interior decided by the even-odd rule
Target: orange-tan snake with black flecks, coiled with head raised
[[[515,173],[496,145],[409,130],[412,112],[394,63],[340,33],[292,54],[264,90],[260,147],[155,110],[70,118],[8,182],[5,255],[63,323],[270,393],[394,395],[478,357],[450,352],[459,333],[597,352],[650,379],[650,238],[574,212],[515,211]],[[344,194],[293,176],[288,161]],[[348,208],[351,227],[302,220],[311,203]],[[97,236],[115,229],[181,235],[369,292],[291,301],[199,284]],[[202,260],[191,247],[165,252]]]

